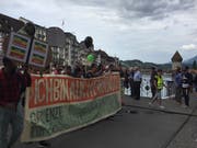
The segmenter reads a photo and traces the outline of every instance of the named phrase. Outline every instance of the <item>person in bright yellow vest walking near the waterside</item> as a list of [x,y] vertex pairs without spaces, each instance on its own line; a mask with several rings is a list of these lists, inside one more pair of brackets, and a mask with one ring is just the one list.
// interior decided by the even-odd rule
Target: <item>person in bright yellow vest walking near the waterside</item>
[[149,105],[152,105],[155,101],[159,101],[160,109],[165,109],[162,105],[162,96],[161,96],[163,87],[166,87],[163,81],[162,69],[158,69],[158,75],[155,76],[154,79],[154,86],[157,88],[157,92],[153,99],[151,100],[151,102],[149,103]]

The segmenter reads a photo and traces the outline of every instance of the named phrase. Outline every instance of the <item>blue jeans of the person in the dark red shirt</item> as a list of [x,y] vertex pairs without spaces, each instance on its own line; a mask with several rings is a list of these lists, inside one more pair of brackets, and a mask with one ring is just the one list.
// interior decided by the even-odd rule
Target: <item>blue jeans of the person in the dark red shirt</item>
[[16,111],[0,106],[0,148],[10,148],[20,138],[23,130],[22,110],[21,104]]

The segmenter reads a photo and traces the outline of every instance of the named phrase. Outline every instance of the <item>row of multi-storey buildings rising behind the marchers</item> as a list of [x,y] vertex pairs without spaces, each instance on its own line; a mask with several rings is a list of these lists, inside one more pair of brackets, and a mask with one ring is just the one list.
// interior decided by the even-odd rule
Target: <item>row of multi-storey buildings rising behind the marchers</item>
[[[13,18],[0,14],[0,58],[3,53],[4,37],[13,32],[26,32],[25,26],[31,24],[34,29],[34,38],[48,44],[48,58],[46,66],[74,66],[78,64],[88,65],[88,55],[93,54],[96,62],[114,64],[118,62],[118,58],[109,57],[103,50],[94,50],[93,38],[86,36],[81,43],[78,42],[74,34],[63,32],[59,27],[40,26],[32,21],[20,18]],[[8,37],[7,37],[8,38]],[[5,52],[4,52],[5,53]]]

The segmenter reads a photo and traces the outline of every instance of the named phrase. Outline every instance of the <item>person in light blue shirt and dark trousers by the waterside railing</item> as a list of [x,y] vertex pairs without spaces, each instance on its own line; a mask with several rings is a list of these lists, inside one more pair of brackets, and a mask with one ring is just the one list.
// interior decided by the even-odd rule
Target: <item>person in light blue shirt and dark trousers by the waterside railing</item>
[[134,91],[135,91],[135,99],[140,100],[140,84],[141,84],[141,72],[139,70],[139,67],[135,67],[135,73],[134,73]]

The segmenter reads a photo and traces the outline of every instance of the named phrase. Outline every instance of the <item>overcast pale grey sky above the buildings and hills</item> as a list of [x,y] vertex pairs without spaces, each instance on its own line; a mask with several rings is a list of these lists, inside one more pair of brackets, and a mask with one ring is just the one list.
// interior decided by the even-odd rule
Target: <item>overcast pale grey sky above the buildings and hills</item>
[[0,0],[0,13],[58,26],[121,60],[197,55],[197,0]]

